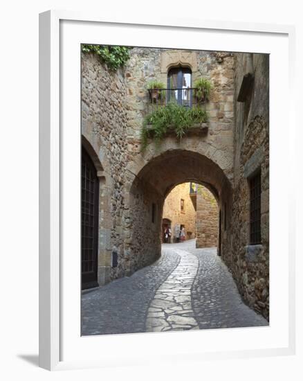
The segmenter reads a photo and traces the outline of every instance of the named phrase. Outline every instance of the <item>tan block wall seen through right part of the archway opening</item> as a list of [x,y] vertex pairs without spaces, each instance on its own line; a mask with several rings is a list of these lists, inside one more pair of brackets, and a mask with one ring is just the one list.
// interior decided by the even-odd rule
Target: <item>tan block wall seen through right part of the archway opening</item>
[[214,195],[199,186],[196,195],[196,247],[217,247],[219,211]]

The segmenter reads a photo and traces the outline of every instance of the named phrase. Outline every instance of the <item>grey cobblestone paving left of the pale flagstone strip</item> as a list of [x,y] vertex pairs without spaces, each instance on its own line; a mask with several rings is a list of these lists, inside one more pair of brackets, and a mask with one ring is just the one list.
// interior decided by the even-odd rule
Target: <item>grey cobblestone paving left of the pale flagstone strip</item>
[[82,335],[145,332],[149,303],[180,257],[163,250],[153,265],[82,295]]

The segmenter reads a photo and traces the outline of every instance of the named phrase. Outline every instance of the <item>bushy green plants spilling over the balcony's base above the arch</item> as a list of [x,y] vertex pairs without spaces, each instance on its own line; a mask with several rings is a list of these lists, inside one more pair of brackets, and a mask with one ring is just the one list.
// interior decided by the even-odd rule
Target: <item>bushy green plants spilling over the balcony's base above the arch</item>
[[[169,130],[173,130],[178,139],[181,139],[190,128],[207,121],[205,110],[198,107],[187,107],[169,103],[159,107],[155,112],[145,117],[141,130],[141,145],[145,150],[148,139],[152,138],[158,145]],[[150,127],[149,127],[150,126]]]

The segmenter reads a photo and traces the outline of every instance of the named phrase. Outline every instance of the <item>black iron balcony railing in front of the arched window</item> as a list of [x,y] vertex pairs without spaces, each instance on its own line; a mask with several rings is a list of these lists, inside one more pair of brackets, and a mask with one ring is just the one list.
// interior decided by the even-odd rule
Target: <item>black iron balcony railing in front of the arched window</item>
[[187,87],[186,89],[149,89],[149,99],[151,101],[150,111],[153,112],[158,107],[167,105],[167,103],[176,103],[180,106],[192,107],[198,103],[194,96],[194,90],[194,87]]

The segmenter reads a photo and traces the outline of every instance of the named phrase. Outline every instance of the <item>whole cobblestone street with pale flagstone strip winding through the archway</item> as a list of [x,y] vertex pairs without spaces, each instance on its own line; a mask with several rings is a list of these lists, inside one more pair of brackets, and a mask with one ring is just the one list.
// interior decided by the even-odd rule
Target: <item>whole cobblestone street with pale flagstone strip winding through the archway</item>
[[153,265],[82,294],[82,335],[267,326],[241,300],[217,249],[163,245]]

